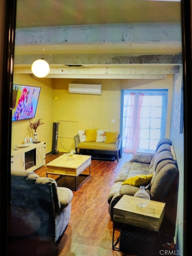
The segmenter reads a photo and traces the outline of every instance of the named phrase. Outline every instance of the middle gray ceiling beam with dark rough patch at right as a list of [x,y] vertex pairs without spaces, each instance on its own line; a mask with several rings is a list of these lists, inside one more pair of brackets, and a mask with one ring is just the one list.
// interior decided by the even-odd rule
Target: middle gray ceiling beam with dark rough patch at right
[[182,64],[181,54],[127,55],[127,54],[38,54],[17,55],[15,65],[32,65],[44,58],[49,65],[110,65],[110,64]]

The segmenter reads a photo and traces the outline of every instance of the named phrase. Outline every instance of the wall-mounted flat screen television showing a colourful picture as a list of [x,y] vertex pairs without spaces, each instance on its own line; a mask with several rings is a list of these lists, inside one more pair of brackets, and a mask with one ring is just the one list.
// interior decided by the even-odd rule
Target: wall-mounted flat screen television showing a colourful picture
[[12,121],[34,118],[41,87],[13,84]]

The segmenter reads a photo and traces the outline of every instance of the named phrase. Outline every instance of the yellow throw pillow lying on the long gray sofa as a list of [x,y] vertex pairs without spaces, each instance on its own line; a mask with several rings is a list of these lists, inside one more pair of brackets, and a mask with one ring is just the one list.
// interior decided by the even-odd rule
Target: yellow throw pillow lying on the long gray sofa
[[126,179],[122,185],[132,185],[132,186],[141,186],[141,185],[145,185],[148,184],[153,177],[153,173],[152,174],[139,174],[136,175],[134,177],[131,177],[129,179]]

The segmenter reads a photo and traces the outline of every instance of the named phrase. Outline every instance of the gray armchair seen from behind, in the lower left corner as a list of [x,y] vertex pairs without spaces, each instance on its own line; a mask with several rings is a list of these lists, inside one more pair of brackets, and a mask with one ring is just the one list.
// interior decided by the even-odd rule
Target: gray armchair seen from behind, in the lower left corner
[[69,222],[73,192],[33,171],[11,171],[11,237],[57,243]]

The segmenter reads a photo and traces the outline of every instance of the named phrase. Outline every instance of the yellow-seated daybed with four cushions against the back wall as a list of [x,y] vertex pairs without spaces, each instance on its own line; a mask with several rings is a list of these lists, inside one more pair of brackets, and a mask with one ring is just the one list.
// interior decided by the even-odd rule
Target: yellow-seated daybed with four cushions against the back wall
[[82,154],[105,154],[116,156],[117,161],[121,158],[122,137],[119,132],[110,132],[98,129],[85,129],[78,131],[74,136],[75,150]]

